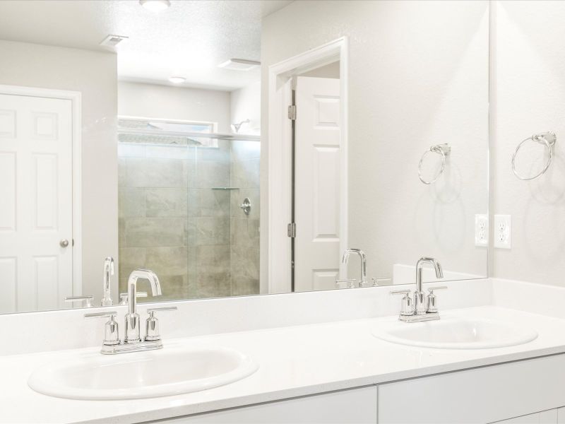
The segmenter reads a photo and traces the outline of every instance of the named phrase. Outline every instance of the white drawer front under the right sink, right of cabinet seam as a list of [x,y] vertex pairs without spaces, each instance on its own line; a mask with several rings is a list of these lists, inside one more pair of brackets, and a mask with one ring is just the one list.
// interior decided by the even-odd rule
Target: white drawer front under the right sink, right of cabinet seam
[[379,424],[492,423],[565,405],[565,355],[381,384]]

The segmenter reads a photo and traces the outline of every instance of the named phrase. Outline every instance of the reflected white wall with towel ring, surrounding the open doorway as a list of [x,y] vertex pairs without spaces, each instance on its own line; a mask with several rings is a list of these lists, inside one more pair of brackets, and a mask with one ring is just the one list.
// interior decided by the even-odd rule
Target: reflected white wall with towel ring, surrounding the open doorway
[[[269,65],[349,37],[349,245],[367,252],[369,276],[391,276],[393,264],[422,255],[487,273],[473,230],[475,213],[488,206],[487,25],[487,1],[295,1],[263,20],[263,81]],[[263,84],[262,228],[267,90]],[[451,166],[424,186],[420,157],[445,142]],[[267,248],[263,232],[262,278]]]

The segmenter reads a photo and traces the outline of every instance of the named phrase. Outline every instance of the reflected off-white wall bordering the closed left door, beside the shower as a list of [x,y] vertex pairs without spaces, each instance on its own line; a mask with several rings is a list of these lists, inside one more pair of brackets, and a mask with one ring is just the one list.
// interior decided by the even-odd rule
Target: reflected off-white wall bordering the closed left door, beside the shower
[[118,257],[116,54],[0,40],[0,57],[0,84],[82,93],[83,293],[100,300],[102,261]]

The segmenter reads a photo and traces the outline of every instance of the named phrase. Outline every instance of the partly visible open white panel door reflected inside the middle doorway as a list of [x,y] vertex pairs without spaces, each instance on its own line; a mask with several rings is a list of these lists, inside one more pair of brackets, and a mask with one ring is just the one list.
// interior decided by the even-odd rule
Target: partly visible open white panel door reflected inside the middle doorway
[[340,81],[298,77],[295,291],[335,288],[340,271]]

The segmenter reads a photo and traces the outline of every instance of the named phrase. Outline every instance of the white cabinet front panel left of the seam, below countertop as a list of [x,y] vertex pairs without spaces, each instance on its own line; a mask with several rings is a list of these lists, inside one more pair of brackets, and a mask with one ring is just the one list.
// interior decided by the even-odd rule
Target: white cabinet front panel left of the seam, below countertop
[[376,386],[170,418],[160,424],[376,424]]

